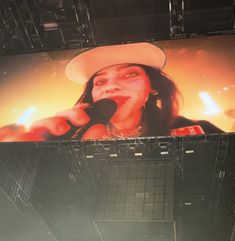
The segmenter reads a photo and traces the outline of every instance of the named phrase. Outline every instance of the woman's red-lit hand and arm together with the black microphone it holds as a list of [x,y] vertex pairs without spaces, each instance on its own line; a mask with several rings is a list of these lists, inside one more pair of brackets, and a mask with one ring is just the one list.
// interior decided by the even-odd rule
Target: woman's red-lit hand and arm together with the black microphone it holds
[[[101,99],[92,106],[88,103],[77,104],[72,109],[34,122],[30,129],[24,126],[8,125],[0,128],[0,141],[46,141],[97,139],[97,133],[104,130],[117,109],[115,101]],[[100,127],[98,128],[93,127]],[[102,127],[102,128],[101,128]],[[97,131],[98,130],[98,131]],[[95,135],[96,133],[96,135]]]

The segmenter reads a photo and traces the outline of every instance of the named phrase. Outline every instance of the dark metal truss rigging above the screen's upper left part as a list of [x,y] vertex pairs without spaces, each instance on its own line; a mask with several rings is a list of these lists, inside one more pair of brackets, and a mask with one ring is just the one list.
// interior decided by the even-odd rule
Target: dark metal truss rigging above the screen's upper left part
[[[82,48],[95,44],[85,0],[4,0],[0,8],[1,52]],[[54,1],[59,2],[59,1]]]

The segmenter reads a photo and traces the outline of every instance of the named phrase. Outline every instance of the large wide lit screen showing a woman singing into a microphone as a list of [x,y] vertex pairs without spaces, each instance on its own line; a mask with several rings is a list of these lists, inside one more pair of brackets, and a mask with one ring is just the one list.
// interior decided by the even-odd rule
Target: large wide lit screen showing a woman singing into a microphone
[[0,140],[235,131],[235,36],[0,57]]

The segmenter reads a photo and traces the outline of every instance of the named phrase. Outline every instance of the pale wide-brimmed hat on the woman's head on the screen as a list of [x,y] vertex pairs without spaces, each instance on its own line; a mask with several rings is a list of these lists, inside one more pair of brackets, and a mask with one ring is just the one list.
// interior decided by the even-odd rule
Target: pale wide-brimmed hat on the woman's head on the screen
[[152,43],[132,43],[101,46],[89,49],[66,65],[67,77],[79,84],[85,84],[98,71],[116,64],[143,64],[162,69],[166,54]]

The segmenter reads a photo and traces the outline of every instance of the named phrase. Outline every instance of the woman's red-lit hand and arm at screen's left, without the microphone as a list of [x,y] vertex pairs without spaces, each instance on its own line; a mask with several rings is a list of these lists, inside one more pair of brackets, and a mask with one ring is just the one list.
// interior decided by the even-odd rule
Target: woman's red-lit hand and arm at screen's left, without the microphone
[[90,121],[84,111],[88,107],[87,103],[77,104],[53,117],[34,122],[29,129],[18,125],[0,128],[0,141],[43,141],[59,138],[68,133],[72,126],[79,128]]

